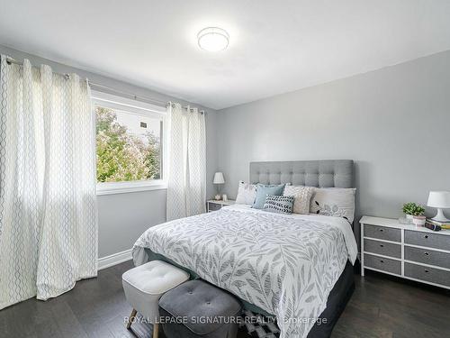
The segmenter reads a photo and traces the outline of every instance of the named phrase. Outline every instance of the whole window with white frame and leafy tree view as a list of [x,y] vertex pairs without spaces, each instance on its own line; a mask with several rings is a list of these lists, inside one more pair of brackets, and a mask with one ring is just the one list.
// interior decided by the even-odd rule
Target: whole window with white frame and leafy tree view
[[164,188],[166,110],[93,93],[97,193]]

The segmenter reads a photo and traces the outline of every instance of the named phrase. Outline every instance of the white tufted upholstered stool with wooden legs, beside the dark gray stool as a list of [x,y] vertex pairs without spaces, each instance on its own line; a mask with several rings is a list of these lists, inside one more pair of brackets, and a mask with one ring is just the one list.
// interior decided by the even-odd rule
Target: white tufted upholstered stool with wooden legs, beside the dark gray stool
[[127,301],[133,307],[127,328],[130,329],[136,313],[139,312],[153,324],[153,338],[157,338],[159,298],[187,279],[187,272],[162,260],[152,260],[125,272],[121,276],[123,290]]

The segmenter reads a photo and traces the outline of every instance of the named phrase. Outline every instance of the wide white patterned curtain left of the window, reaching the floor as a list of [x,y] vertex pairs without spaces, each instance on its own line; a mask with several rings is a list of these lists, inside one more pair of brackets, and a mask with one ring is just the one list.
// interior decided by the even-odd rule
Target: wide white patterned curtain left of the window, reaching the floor
[[0,308],[96,276],[89,86],[49,66],[0,69]]

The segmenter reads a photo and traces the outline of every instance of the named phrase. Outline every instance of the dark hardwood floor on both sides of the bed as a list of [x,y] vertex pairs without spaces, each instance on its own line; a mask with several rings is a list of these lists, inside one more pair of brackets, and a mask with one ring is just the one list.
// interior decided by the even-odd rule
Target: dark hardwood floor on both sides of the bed
[[[0,337],[150,337],[146,324],[125,329],[131,308],[121,274],[131,267],[125,262],[103,269],[97,279],[81,280],[60,297],[30,299],[1,310]],[[332,338],[450,337],[449,291],[370,271],[365,279],[355,278],[356,291]]]

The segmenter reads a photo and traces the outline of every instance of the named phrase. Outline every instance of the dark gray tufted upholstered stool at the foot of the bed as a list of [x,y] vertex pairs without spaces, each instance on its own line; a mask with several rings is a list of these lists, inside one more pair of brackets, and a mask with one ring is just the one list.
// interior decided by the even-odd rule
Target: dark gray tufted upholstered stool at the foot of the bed
[[159,299],[167,338],[234,338],[240,310],[235,297],[202,280],[187,281]]

